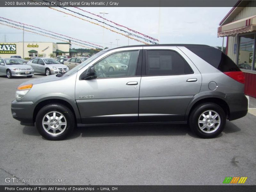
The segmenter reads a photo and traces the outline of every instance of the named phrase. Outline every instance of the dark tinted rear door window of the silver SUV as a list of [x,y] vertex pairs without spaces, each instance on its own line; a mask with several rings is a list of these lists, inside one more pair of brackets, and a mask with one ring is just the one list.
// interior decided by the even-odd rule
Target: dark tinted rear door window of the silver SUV
[[177,53],[169,50],[147,50],[146,75],[184,75],[193,73],[188,63]]

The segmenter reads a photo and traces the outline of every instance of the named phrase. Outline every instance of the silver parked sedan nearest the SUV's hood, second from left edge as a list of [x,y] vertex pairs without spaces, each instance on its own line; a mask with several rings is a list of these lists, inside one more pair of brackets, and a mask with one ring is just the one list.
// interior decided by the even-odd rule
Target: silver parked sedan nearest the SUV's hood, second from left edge
[[43,73],[46,76],[69,70],[66,65],[52,58],[35,58],[34,60],[29,60],[27,64],[35,70],[35,73]]

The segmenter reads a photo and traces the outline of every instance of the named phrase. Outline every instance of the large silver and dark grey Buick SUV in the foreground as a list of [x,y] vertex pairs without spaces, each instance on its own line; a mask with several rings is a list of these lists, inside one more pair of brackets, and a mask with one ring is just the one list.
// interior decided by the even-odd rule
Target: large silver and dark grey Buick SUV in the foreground
[[[103,70],[107,58],[127,59],[127,70]],[[98,52],[66,73],[21,84],[12,116],[36,124],[49,140],[69,136],[77,124],[187,124],[213,138],[226,119],[247,114],[244,75],[207,45],[163,44]]]

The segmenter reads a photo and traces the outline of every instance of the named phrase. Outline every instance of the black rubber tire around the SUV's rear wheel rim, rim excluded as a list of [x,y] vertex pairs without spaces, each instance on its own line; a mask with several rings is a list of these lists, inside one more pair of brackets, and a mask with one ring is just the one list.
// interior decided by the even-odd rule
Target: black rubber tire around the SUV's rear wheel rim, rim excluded
[[[213,110],[216,111],[220,115],[220,127],[212,133],[205,133],[200,130],[198,126],[198,119],[199,116],[207,110]],[[226,124],[226,113],[224,110],[215,103],[204,103],[201,105],[196,106],[196,108],[191,112],[189,116],[189,126],[190,129],[197,134],[198,136],[202,138],[214,138],[217,137],[224,129]]]

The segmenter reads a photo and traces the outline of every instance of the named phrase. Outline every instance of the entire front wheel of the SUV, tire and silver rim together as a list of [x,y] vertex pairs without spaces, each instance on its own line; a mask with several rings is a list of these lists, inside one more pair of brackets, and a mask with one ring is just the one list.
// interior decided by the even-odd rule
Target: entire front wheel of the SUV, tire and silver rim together
[[[47,116],[50,117],[50,119]],[[59,119],[60,116],[63,117]],[[51,119],[51,117],[53,119]],[[54,128],[54,126],[56,126],[56,128]],[[60,103],[45,105],[39,110],[36,116],[36,128],[38,132],[48,140],[65,139],[71,134],[75,126],[76,120],[73,112]]]

